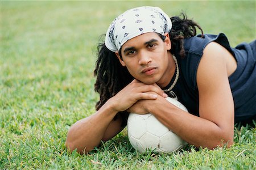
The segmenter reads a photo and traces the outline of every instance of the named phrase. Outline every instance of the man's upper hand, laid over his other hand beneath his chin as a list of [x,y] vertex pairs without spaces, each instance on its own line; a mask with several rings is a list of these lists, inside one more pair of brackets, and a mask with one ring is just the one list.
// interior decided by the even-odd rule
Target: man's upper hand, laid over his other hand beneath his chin
[[157,84],[144,84],[134,79],[115,96],[109,99],[117,112],[126,111],[138,100],[155,100],[158,95],[167,97]]

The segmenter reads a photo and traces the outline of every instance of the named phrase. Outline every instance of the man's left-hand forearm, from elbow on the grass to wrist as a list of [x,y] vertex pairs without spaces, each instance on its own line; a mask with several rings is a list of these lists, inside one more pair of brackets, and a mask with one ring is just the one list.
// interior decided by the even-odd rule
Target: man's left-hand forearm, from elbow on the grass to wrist
[[96,113],[77,121],[68,131],[66,146],[71,151],[77,148],[81,154],[92,150],[100,144],[115,114],[117,111],[106,103]]

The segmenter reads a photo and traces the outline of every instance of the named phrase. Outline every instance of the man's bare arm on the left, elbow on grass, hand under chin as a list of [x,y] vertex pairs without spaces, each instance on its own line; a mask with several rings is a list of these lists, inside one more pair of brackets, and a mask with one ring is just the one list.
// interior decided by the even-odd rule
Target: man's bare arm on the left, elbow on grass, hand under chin
[[[154,91],[155,94],[148,92]],[[123,127],[122,118],[113,120],[114,116],[121,111],[125,111],[134,103],[141,99],[155,100],[163,95],[163,91],[156,84],[144,84],[138,80],[133,80],[117,95],[110,98],[94,114],[77,121],[68,131],[66,146],[73,151],[77,148],[80,154],[84,154],[103,141],[108,141],[117,135]]]

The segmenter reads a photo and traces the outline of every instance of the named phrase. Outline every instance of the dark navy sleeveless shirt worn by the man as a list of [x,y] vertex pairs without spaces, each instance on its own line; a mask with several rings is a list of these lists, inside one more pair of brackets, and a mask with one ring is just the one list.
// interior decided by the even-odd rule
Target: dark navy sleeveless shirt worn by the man
[[[217,42],[233,54],[237,69],[229,76],[229,84],[234,99],[235,123],[255,119],[256,116],[256,40],[250,44],[242,43],[231,48],[227,37],[219,35],[201,35],[184,39],[185,57],[177,56],[179,79],[175,87],[177,99],[185,105],[189,113],[199,116],[199,91],[196,73],[203,50],[210,42]],[[175,76],[174,76],[175,77]],[[166,87],[174,82],[174,77]]]

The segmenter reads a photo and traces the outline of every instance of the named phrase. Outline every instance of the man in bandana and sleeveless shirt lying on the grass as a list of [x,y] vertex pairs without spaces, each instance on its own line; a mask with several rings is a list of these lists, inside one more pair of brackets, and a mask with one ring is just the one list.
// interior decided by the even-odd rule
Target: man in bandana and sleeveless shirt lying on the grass
[[[110,25],[94,73],[97,112],[68,132],[69,150],[92,150],[118,134],[127,113],[152,113],[196,147],[233,143],[234,123],[255,119],[255,41],[230,48],[224,34],[196,36],[185,16],[138,7]],[[165,97],[175,97],[188,112]]]

